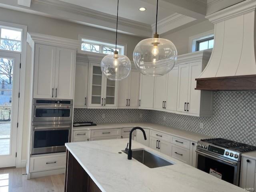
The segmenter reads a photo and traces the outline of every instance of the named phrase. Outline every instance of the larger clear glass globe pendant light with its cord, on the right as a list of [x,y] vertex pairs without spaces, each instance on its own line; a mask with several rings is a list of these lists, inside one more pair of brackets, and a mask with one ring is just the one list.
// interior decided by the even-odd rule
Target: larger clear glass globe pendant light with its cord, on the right
[[158,0],[156,5],[156,33],[153,38],[140,41],[133,52],[133,61],[140,73],[149,76],[162,76],[174,67],[177,60],[175,45],[157,34]]

